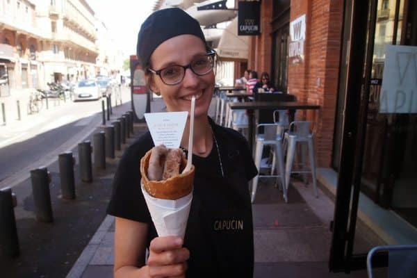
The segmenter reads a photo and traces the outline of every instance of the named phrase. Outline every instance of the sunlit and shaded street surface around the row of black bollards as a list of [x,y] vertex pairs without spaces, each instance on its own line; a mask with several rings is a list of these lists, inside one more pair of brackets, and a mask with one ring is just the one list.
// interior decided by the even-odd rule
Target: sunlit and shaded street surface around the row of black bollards
[[[122,88],[122,105],[114,106],[111,121],[131,110],[129,88]],[[109,124],[110,122],[106,122]],[[106,170],[93,169],[93,182],[79,177],[77,145],[102,130],[101,101],[61,102],[30,115],[22,122],[0,126],[0,188],[11,187],[17,196],[14,208],[20,255],[0,254],[1,277],[65,277],[106,215],[116,159]],[[129,141],[128,141],[129,142]],[[72,151],[76,158],[76,199],[61,197],[58,154]],[[35,220],[30,171],[46,166],[54,222]],[[70,238],[71,240],[68,240]]]

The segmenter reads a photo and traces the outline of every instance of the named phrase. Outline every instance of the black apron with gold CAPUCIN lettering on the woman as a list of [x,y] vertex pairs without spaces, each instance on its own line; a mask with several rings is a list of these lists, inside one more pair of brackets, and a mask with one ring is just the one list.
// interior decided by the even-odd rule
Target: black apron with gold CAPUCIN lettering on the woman
[[234,163],[225,177],[196,167],[184,240],[192,266],[187,277],[253,277],[252,205],[245,168],[239,155],[222,159]]

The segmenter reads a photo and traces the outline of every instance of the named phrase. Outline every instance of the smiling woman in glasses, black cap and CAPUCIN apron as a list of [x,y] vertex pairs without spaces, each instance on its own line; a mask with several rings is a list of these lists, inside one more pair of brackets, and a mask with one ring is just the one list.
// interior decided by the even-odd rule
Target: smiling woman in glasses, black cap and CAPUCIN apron
[[[108,213],[116,217],[115,277],[252,277],[247,182],[257,171],[240,133],[208,117],[214,52],[195,19],[181,9],[167,8],[142,24],[137,54],[149,88],[162,95],[167,111],[190,111],[190,99],[196,97],[193,202],[185,237],[158,237],[140,190],[140,158],[154,147],[149,132],[126,149],[108,205]],[[183,149],[188,147],[189,120]]]

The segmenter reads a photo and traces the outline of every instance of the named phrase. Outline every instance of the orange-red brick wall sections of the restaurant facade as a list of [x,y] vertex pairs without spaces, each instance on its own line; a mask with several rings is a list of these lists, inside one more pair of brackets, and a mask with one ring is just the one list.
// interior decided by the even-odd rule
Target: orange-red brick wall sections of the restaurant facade
[[[288,92],[299,101],[320,105],[320,111],[300,111],[317,123],[316,160],[320,167],[330,167],[339,57],[343,24],[343,0],[291,0],[290,21],[306,15],[304,60],[288,61]],[[262,34],[250,40],[248,68],[271,72],[272,66],[272,1],[261,3]]]

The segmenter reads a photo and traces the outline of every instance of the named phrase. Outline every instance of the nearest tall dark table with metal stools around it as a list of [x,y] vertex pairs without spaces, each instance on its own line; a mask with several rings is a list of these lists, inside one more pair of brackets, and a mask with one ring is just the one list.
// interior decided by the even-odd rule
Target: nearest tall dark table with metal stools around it
[[234,109],[246,109],[248,117],[248,138],[249,147],[252,152],[253,138],[254,138],[254,111],[261,111],[265,109],[275,110],[288,110],[289,118],[294,120],[295,111],[297,110],[318,110],[319,105],[304,104],[298,101],[244,101],[244,102],[231,102],[229,104],[232,110]]

